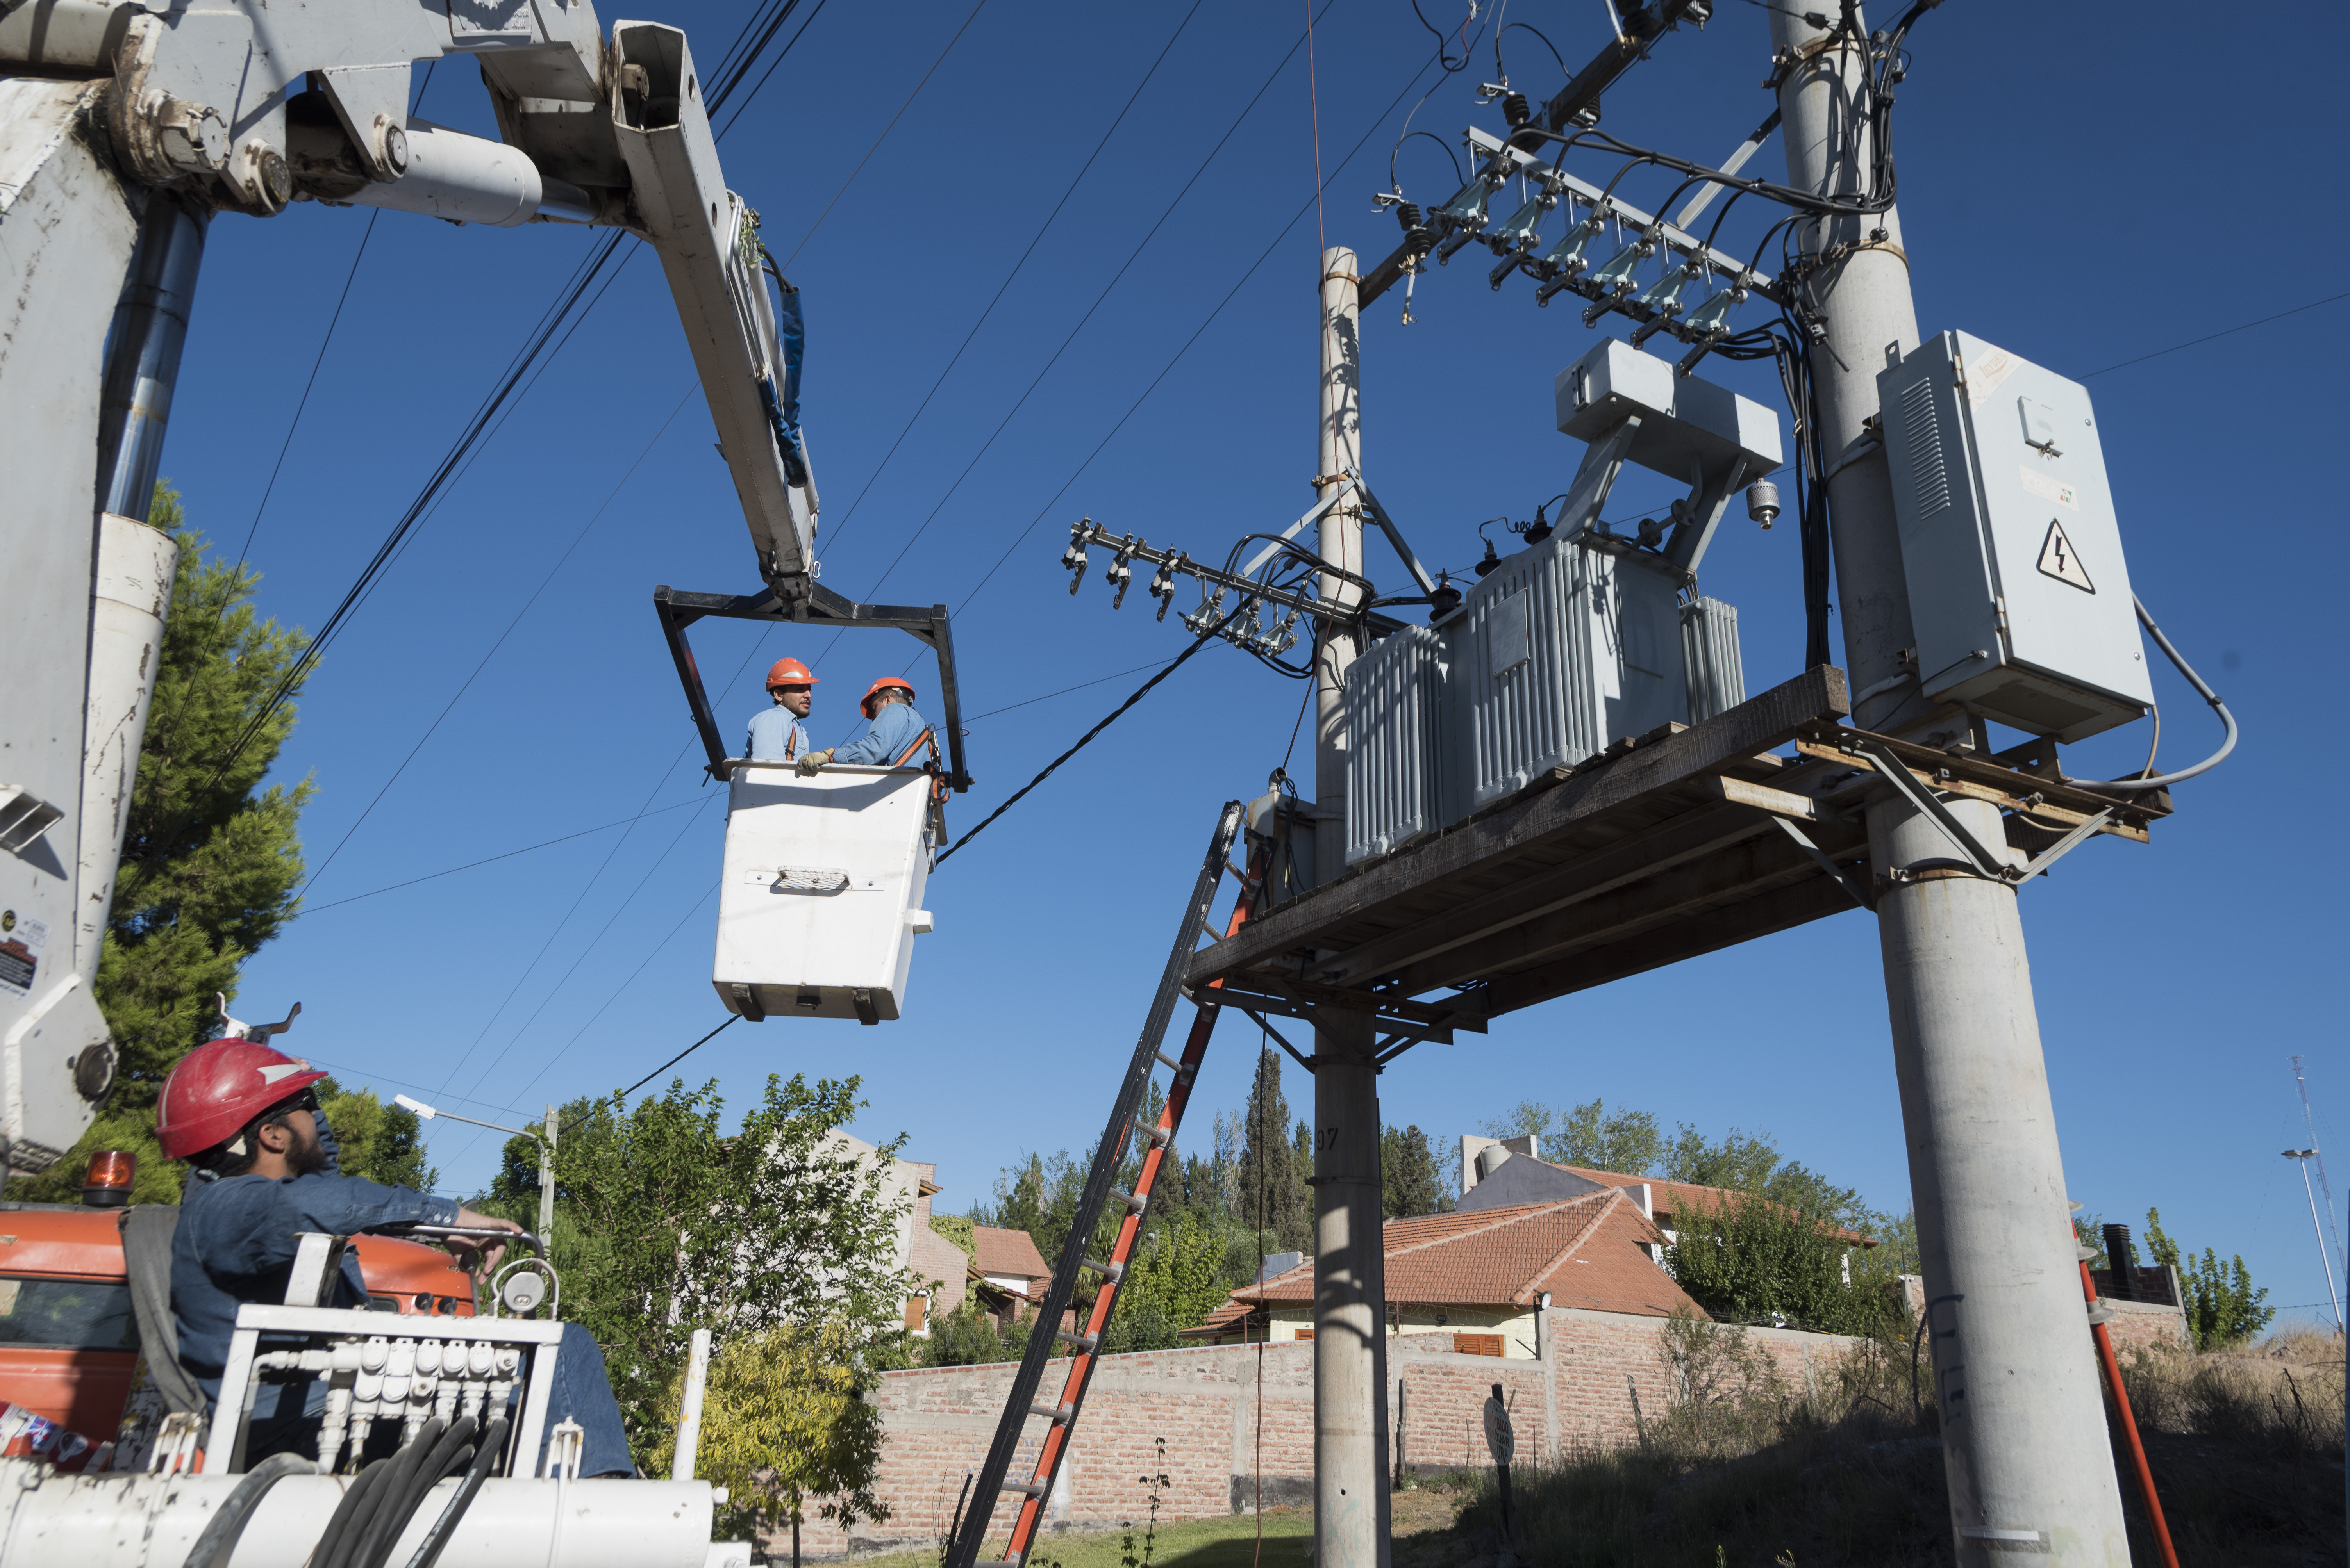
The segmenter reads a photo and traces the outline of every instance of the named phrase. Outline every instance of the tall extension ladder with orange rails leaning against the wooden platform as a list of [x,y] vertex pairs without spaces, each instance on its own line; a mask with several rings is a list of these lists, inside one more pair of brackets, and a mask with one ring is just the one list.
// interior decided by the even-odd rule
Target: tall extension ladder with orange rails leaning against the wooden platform
[[[1006,1491],[1003,1476],[1013,1465],[1013,1455],[1020,1448],[1020,1439],[1032,1418],[1050,1422],[1046,1427],[1043,1441],[1036,1448],[1036,1472],[1027,1483],[1013,1483],[1010,1491],[1025,1493],[1020,1502],[1020,1514],[1013,1519],[1013,1535],[1003,1552],[1003,1561],[1020,1568],[1027,1563],[1029,1547],[1036,1540],[1036,1528],[1043,1523],[1043,1500],[1053,1491],[1053,1476],[1060,1472],[1062,1460],[1069,1455],[1069,1432],[1076,1427],[1076,1413],[1086,1404],[1086,1385],[1093,1380],[1093,1368],[1102,1336],[1109,1331],[1109,1314],[1119,1305],[1119,1284],[1126,1279],[1126,1265],[1133,1261],[1135,1239],[1142,1235],[1142,1216],[1149,1209],[1152,1190],[1159,1185],[1159,1171],[1175,1145],[1175,1129],[1182,1127],[1184,1106],[1191,1103],[1191,1080],[1198,1075],[1198,1061],[1208,1054],[1208,1035],[1215,1033],[1215,1016],[1222,1012],[1213,993],[1222,981],[1213,981],[1208,988],[1196,993],[1191,1002],[1198,1007],[1198,1016],[1191,1019],[1191,1038],[1184,1042],[1182,1059],[1166,1056],[1159,1045],[1166,1040],[1168,1023],[1175,1016],[1175,1002],[1184,991],[1184,972],[1191,967],[1191,953],[1198,948],[1201,932],[1208,930],[1208,911],[1215,904],[1217,883],[1231,871],[1231,845],[1241,836],[1243,805],[1238,800],[1224,803],[1224,815],[1217,817],[1215,840],[1208,845],[1208,861],[1198,871],[1198,885],[1191,890],[1191,901],[1184,906],[1182,934],[1175,937],[1175,951],[1168,955],[1166,974],[1159,976],[1159,995],[1152,998],[1152,1012],[1142,1023],[1142,1040],[1135,1045],[1135,1059],[1126,1068],[1126,1082],[1119,1087],[1119,1106],[1109,1113],[1109,1127],[1102,1131],[1102,1143],[1093,1150],[1093,1171],[1086,1176],[1086,1190],[1076,1202],[1076,1218],[1069,1225],[1069,1242],[1062,1246],[1060,1268],[1053,1270],[1053,1286],[1043,1293],[1043,1305],[1036,1310],[1036,1331],[1029,1333],[1027,1354],[1020,1357],[1020,1373],[1013,1378],[1010,1399],[1003,1404],[1003,1420],[996,1422],[996,1441],[987,1451],[987,1462],[980,1467],[975,1486],[971,1491],[971,1505],[964,1509],[961,1523],[954,1535],[954,1549],[947,1556],[947,1568],[975,1568],[980,1549],[987,1542],[987,1523],[996,1512],[996,1498]],[[1248,873],[1241,878],[1241,897],[1231,908],[1231,920],[1224,925],[1224,937],[1234,937],[1241,922],[1248,920],[1250,906],[1257,901],[1257,887],[1264,883],[1264,857],[1253,854],[1248,861]],[[1137,1129],[1135,1117],[1142,1113],[1144,1089],[1152,1084],[1154,1068],[1170,1068],[1175,1082],[1166,1091],[1166,1110],[1159,1113],[1154,1127]],[[1142,1174],[1135,1181],[1133,1192],[1112,1190],[1116,1181],[1119,1162],[1126,1155],[1128,1141],[1142,1131],[1147,1148],[1142,1153]],[[1119,1242],[1109,1249],[1109,1258],[1088,1258],[1086,1239],[1093,1237],[1093,1228],[1102,1218],[1104,1204],[1112,1199],[1126,1204],[1126,1221],[1119,1225]],[[1076,1296],[1079,1270],[1093,1270],[1102,1277],[1102,1289],[1093,1298],[1093,1314],[1086,1319],[1083,1333],[1067,1333],[1060,1329],[1062,1312],[1069,1310],[1069,1300]],[[1043,1329],[1053,1329],[1046,1333]],[[1036,1399],[1036,1387],[1043,1383],[1046,1364],[1053,1359],[1053,1347],[1060,1340],[1069,1340],[1074,1354],[1069,1357],[1069,1376],[1060,1387],[1058,1404],[1041,1404]]]

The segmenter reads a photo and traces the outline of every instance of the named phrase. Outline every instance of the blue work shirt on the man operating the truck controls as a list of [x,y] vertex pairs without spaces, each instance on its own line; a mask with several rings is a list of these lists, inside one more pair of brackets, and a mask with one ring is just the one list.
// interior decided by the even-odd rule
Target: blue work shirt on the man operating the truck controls
[[[287,1298],[298,1232],[348,1237],[397,1221],[454,1225],[456,1214],[454,1197],[331,1171],[284,1181],[251,1171],[190,1181],[179,1207],[179,1232],[172,1237],[172,1317],[179,1322],[181,1364],[207,1399],[219,1399],[237,1307],[247,1300]],[[360,1275],[355,1249],[343,1251],[343,1277],[327,1305],[367,1305],[367,1279]],[[275,1392],[277,1385],[258,1390],[254,1415],[275,1413]]]

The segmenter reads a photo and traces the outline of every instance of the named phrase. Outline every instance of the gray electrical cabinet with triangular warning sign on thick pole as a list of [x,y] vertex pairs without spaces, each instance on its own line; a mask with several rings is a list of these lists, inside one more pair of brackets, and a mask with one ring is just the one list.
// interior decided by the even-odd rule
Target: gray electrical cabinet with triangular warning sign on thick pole
[[1885,369],[1878,399],[1925,695],[2061,742],[2143,718],[2089,392],[1946,331]]

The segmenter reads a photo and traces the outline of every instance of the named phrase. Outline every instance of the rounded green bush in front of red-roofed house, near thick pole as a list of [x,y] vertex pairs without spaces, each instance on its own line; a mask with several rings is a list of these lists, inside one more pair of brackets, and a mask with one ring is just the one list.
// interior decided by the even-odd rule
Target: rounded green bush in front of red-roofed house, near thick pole
[[1676,1214],[1673,1225],[1666,1270],[1723,1322],[1868,1333],[1894,1312],[1889,1275],[1856,1242],[1758,1192],[1725,1192],[1718,1204]]

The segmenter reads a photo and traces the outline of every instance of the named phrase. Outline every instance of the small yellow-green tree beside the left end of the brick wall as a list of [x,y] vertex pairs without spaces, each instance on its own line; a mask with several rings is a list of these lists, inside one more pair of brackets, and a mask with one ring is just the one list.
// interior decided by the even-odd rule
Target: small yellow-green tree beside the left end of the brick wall
[[[557,1155],[559,1160],[559,1155]],[[799,1563],[799,1526],[811,1498],[844,1530],[860,1519],[888,1519],[874,1495],[881,1467],[881,1411],[865,1404],[877,1383],[862,1326],[827,1317],[776,1324],[736,1336],[710,1359],[703,1394],[703,1441],[696,1474],[726,1488],[721,1535],[757,1535],[790,1526]],[[663,1441],[651,1474],[667,1474],[677,1451],[684,1376],[670,1380]]]

